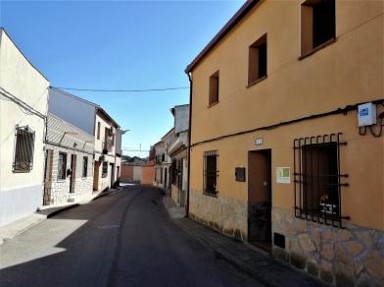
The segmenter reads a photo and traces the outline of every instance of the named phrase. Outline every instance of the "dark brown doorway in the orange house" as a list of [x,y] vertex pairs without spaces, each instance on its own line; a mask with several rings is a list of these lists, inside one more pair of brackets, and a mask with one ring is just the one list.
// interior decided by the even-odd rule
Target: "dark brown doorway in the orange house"
[[272,245],[271,150],[248,153],[248,241],[271,251]]

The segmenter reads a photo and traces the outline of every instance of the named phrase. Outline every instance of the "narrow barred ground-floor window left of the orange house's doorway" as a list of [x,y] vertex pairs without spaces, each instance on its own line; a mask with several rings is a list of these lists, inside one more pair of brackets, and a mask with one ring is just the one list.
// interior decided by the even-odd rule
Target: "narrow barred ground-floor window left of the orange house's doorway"
[[217,183],[217,153],[216,151],[207,151],[204,153],[204,193],[216,195]]

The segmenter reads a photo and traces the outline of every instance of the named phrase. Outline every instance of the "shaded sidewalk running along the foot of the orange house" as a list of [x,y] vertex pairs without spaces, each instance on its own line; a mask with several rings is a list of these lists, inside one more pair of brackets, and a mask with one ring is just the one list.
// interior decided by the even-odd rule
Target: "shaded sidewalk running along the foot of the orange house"
[[[163,203],[168,209],[170,216],[175,219],[175,223],[185,232],[189,233],[221,258],[229,261],[266,286],[328,286],[288,264],[277,261],[265,252],[258,251],[246,243],[222,235],[189,218],[180,217],[181,213],[175,213],[175,210],[181,212],[180,207],[176,207],[175,203],[172,203],[172,199],[169,197],[165,196]],[[184,208],[182,209],[184,210]],[[175,216],[175,214],[177,216]]]

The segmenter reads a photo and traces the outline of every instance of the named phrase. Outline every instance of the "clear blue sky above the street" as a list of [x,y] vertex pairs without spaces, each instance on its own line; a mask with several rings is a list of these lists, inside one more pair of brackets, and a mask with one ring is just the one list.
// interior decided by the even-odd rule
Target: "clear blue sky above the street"
[[[0,26],[55,87],[188,87],[185,67],[244,1],[1,1]],[[189,89],[68,92],[101,105],[122,127],[123,153],[147,156],[173,126]]]

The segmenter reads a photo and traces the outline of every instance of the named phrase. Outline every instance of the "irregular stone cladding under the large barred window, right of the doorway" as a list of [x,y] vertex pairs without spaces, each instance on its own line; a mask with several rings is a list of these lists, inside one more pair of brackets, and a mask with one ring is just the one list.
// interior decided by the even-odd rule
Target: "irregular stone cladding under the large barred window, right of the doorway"
[[272,234],[285,236],[273,256],[335,286],[384,286],[384,232],[343,222],[344,228],[295,218],[273,208]]

